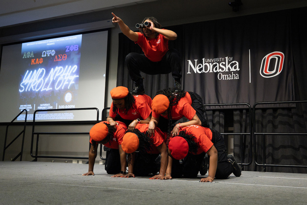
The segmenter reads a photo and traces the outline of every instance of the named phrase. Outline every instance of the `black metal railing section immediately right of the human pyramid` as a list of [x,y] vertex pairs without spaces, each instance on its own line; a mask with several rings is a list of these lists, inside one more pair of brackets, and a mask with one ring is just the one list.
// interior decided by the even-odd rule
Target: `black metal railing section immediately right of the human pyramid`
[[[221,135],[240,135],[240,155],[241,155],[241,166],[247,166],[250,165],[253,162],[253,151],[252,151],[252,123],[251,123],[251,119],[252,119],[252,112],[251,112],[251,105],[248,103],[226,103],[226,104],[204,104],[204,106],[247,106],[247,108],[243,108],[243,109],[248,109],[249,112],[249,132],[248,133],[244,133],[244,132],[240,132],[240,133],[221,133]],[[226,108],[225,108],[226,109]],[[229,108],[229,109],[242,109],[242,108]],[[242,159],[243,159],[243,135],[249,135],[250,136],[250,145],[249,145],[249,154],[250,154],[250,161],[247,163],[243,163]]]

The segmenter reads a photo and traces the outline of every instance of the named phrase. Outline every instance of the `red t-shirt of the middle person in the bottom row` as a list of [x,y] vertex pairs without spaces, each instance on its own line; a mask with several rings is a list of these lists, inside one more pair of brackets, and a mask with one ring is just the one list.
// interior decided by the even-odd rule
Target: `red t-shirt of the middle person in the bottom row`
[[[148,130],[149,124],[137,124],[137,128],[140,132],[145,133]],[[148,151],[150,154],[159,154],[157,146],[161,145],[166,140],[166,133],[162,132],[159,128],[156,127],[154,131],[154,136],[150,136],[150,141],[152,142],[152,151]]]

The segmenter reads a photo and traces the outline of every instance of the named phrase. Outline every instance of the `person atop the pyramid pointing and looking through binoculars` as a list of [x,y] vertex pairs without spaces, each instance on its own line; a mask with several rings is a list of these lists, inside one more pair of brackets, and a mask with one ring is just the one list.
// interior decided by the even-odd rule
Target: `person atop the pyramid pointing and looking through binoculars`
[[122,33],[130,40],[137,43],[145,54],[129,53],[126,56],[126,64],[131,79],[135,82],[133,95],[145,92],[143,78],[140,71],[146,74],[172,73],[175,88],[181,89],[181,60],[176,49],[168,48],[168,41],[175,40],[177,34],[171,30],[161,29],[161,24],[154,17],[146,17],[142,21],[150,25],[140,28],[140,32],[134,32],[115,14],[112,22],[118,23]]

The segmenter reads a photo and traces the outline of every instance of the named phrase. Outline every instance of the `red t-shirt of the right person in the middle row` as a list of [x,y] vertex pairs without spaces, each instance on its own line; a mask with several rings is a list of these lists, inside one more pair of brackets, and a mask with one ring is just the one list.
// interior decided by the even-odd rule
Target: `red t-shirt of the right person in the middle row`
[[[190,100],[188,100],[188,99],[190,99]],[[192,118],[196,114],[196,110],[194,110],[194,108],[192,108],[191,104],[192,104],[192,100],[191,100],[190,94],[188,94],[188,92],[187,92],[185,97],[182,97],[178,101],[177,104],[172,106],[172,110],[171,110],[172,120],[179,120],[183,116],[188,118],[188,120],[192,120]],[[160,115],[155,113],[154,111],[152,111],[152,116],[155,117],[155,118],[160,117]],[[165,119],[168,119],[167,115],[163,116],[163,117]]]

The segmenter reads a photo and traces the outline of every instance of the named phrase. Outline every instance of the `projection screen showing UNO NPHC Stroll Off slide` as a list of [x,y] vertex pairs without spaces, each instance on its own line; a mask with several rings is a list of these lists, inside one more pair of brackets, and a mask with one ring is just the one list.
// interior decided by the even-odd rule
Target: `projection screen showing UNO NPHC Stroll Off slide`
[[[23,109],[104,108],[108,31],[2,47],[0,122]],[[37,112],[35,121],[95,120],[96,111]],[[25,119],[22,113],[17,121]]]

